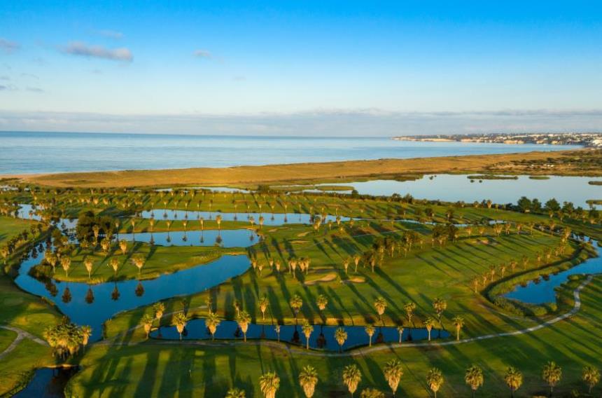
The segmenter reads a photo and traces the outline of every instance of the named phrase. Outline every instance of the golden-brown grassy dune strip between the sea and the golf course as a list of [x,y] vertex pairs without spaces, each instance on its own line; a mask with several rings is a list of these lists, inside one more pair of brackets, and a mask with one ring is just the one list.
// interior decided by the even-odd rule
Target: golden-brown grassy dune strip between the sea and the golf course
[[[502,155],[449,156],[439,158],[356,160],[328,163],[295,163],[290,165],[241,166],[227,168],[193,168],[181,170],[127,170],[120,172],[75,172],[21,176],[24,181],[47,186],[186,186],[241,184],[280,184],[316,179],[380,177],[399,174],[436,174],[440,172],[490,172],[521,170],[521,162],[546,162],[550,158],[582,156],[587,151],[507,153]],[[580,168],[557,167],[558,172],[583,175]],[[547,174],[549,174],[549,170]],[[522,172],[522,170],[521,170]],[[535,170],[536,172],[536,170]],[[527,174],[535,173],[533,171]],[[598,172],[590,175],[598,175]]]

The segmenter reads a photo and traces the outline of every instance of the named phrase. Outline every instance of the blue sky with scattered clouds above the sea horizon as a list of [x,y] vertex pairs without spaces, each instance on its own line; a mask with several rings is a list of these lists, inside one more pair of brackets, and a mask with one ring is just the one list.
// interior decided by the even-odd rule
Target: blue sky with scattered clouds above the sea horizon
[[600,1],[0,1],[0,130],[601,131]]

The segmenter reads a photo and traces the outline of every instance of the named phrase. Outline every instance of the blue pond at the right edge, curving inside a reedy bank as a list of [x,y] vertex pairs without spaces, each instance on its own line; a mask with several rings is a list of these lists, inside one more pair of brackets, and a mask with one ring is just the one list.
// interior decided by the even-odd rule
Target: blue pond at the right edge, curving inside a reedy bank
[[548,275],[545,279],[539,279],[537,283],[529,281],[525,286],[518,285],[514,291],[510,291],[504,296],[524,303],[554,303],[556,301],[556,291],[554,289],[566,282],[570,275],[602,273],[602,248],[594,240],[591,243],[598,252],[597,257],[587,259],[583,263],[561,271],[556,275]]

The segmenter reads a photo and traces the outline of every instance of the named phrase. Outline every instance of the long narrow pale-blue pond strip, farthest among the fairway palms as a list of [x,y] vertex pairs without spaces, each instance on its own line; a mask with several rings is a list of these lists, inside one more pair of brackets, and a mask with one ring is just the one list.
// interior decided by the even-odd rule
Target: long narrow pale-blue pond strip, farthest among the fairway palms
[[[195,212],[193,210],[169,210],[169,209],[153,209],[141,213],[143,219],[157,220],[197,220],[202,217],[204,220],[215,220],[217,215],[221,215],[222,221],[240,221],[250,224],[251,217],[255,225],[259,225],[259,218],[263,217],[263,225],[265,226],[282,226],[284,224],[312,224],[314,216],[304,213],[247,213],[247,212]],[[349,217],[342,217],[341,221],[349,221]],[[337,216],[327,214],[322,222],[337,221]]]

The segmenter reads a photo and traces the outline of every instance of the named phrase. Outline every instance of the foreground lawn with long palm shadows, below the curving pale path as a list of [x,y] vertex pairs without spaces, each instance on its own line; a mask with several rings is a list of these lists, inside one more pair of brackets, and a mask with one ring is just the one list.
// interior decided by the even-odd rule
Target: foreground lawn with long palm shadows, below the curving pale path
[[[578,282],[571,282],[573,289]],[[568,396],[572,390],[587,391],[581,379],[585,364],[600,366],[602,357],[602,277],[596,277],[582,291],[582,310],[570,320],[553,327],[521,336],[493,338],[458,346],[428,349],[400,348],[357,357],[316,357],[302,350],[288,352],[253,343],[208,347],[205,345],[160,345],[149,341],[132,346],[95,345],[81,364],[82,371],[70,382],[73,396],[144,396],[221,397],[233,385],[246,390],[248,396],[261,397],[258,378],[266,371],[276,371],[281,387],[276,396],[302,397],[297,375],[307,364],[318,371],[316,397],[346,396],[342,369],[357,364],[363,373],[359,390],[378,387],[390,391],[382,368],[392,358],[400,359],[404,374],[398,396],[428,395],[426,373],[436,366],[445,383],[438,397],[468,396],[465,369],[472,364],[484,370],[485,383],[477,397],[510,395],[503,382],[507,366],[517,366],[524,374],[524,384],[515,397],[547,394],[541,380],[545,362],[556,361],[562,367],[562,380],[554,389],[556,396]],[[600,394],[601,386],[594,389]]]

